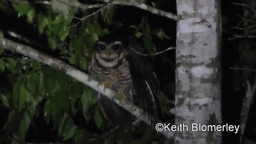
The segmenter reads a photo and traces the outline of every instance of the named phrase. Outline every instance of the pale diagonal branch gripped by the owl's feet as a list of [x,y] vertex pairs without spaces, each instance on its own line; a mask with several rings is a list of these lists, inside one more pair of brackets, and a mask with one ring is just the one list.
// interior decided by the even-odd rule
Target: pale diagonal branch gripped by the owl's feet
[[[38,60],[39,62],[47,64],[53,68],[62,70],[67,75],[71,76],[72,78],[75,78],[76,80],[82,82],[83,84],[86,84],[90,88],[100,92],[101,94],[103,94],[104,96],[107,96],[110,99],[113,99],[112,97],[116,93],[116,91],[109,88],[104,90],[104,86],[98,86],[98,81],[93,80],[92,78],[90,78],[89,80],[88,74],[74,68],[73,66],[70,66],[69,64],[66,64],[65,62],[57,58],[54,58],[52,56],[39,52],[38,50],[31,48],[30,46],[13,42],[2,36],[0,36],[0,46],[4,47],[6,50],[23,54],[24,56],[28,56],[34,60]],[[128,112],[130,112],[131,114],[139,118],[140,120],[144,121],[146,124],[150,126],[152,125],[151,122],[148,120],[148,116],[150,116],[148,112],[144,112],[142,108],[136,106],[130,100],[126,98],[123,98],[121,101],[114,99],[114,102],[116,102],[116,104],[120,105],[122,108],[124,108],[125,110],[127,110]],[[154,121],[156,121],[157,123],[159,122],[163,123],[160,120],[154,120]],[[170,131],[162,130],[160,133],[162,133],[167,138],[171,138],[174,136],[174,132],[170,132]]]

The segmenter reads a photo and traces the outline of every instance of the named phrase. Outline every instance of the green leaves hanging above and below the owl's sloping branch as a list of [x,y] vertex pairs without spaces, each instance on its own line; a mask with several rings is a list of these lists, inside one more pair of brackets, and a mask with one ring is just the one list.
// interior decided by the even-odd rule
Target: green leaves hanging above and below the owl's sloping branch
[[[142,3],[145,2],[142,0]],[[47,36],[48,49],[53,54],[84,71],[88,68],[94,42],[111,31],[109,25],[120,24],[114,20],[116,6],[83,20],[75,17],[88,16],[92,10],[80,12],[70,8],[69,16],[65,17],[62,13],[54,12],[50,5],[42,5],[46,9],[44,12],[31,4],[12,6],[19,18],[26,18],[39,35]],[[151,30],[146,17],[138,26],[130,27],[134,28],[134,36],[143,40],[150,53],[157,50],[152,36],[159,40],[170,39],[160,28]],[[0,138],[0,143],[12,140],[25,142],[28,139],[26,132],[31,127],[35,128],[34,121],[42,117],[52,125],[52,130],[58,132],[58,140],[75,144],[93,142],[94,139],[101,143],[116,141],[118,144],[137,144],[154,138],[154,131],[148,128],[128,130],[126,133],[114,131],[101,137],[110,130],[111,125],[100,112],[92,89],[54,68],[3,48],[0,48],[0,55],[0,88],[3,88],[0,90],[0,106],[8,110],[3,126],[5,138]],[[96,130],[92,130],[90,125]],[[136,138],[135,133],[141,137]],[[129,142],[126,137],[129,137]]]

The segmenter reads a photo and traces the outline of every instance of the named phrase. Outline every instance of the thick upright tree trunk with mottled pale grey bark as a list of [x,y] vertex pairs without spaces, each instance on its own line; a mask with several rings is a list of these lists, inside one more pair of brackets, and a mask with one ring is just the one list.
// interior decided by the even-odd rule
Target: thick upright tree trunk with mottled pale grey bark
[[175,144],[220,144],[221,131],[196,129],[222,124],[220,2],[176,2],[175,121],[187,127],[176,131]]

